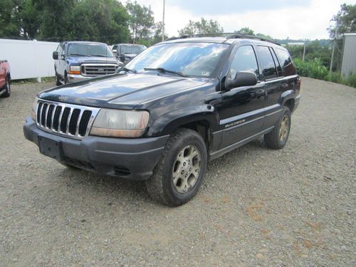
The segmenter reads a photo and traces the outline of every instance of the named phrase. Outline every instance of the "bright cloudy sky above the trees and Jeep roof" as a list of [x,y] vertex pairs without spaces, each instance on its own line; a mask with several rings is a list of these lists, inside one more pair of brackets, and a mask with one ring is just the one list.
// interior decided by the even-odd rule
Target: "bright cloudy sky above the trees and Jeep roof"
[[[155,21],[162,21],[163,0],[137,3],[151,6]],[[218,21],[225,32],[248,26],[273,38],[328,38],[326,28],[343,3],[356,4],[356,0],[166,0],[166,32],[177,36],[189,19],[204,17]]]

